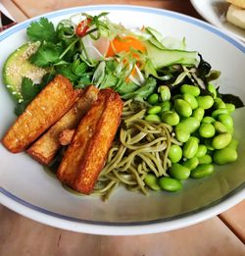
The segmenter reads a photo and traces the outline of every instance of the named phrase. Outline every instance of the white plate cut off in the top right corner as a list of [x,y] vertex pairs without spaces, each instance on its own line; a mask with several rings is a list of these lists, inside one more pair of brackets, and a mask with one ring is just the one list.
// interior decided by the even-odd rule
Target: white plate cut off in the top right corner
[[227,33],[245,41],[245,30],[226,22],[225,13],[229,3],[225,0],[191,0],[197,12],[211,24],[224,29]]

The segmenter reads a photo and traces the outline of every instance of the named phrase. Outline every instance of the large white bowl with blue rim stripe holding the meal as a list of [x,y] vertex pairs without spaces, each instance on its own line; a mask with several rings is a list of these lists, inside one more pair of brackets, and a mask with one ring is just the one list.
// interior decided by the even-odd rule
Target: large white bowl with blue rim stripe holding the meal
[[[244,46],[202,21],[170,11],[136,6],[104,5],[61,10],[44,15],[54,23],[79,12],[109,18],[124,26],[152,26],[164,35],[185,37],[188,49],[197,50],[221,71],[221,91],[245,101]],[[135,19],[136,18],[136,19]],[[0,34],[2,70],[4,60],[22,45],[25,28],[33,18]],[[212,42],[212,43],[210,43]],[[14,103],[1,84],[0,136],[16,119]],[[107,202],[95,196],[76,196],[44,172],[25,153],[11,154],[0,145],[0,202],[35,221],[66,230],[97,234],[140,234],[174,230],[211,218],[245,196],[245,109],[235,111],[235,136],[240,141],[239,159],[217,168],[207,179],[188,180],[177,193],[152,192],[149,196],[119,188]]]

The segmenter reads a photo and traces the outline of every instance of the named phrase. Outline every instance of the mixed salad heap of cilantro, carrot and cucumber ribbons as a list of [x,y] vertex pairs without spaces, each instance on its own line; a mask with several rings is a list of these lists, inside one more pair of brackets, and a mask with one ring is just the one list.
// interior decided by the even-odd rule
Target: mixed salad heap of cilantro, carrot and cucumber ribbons
[[[32,22],[26,29],[37,50],[28,62],[45,70],[40,83],[27,76],[22,81],[22,99],[17,104],[20,115],[45,84],[60,74],[75,88],[94,84],[111,87],[123,99],[145,101],[159,85],[172,90],[183,83],[199,86],[204,93],[208,83],[220,76],[196,51],[187,51],[185,38],[164,37],[152,27],[126,29],[112,23],[108,13],[98,16],[80,14],[54,26],[48,19]],[[243,106],[233,95],[222,99]]]

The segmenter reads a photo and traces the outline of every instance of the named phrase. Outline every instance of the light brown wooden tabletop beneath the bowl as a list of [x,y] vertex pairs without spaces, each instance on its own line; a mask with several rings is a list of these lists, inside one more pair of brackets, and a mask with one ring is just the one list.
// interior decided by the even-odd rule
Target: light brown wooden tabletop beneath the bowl
[[[1,0],[17,22],[63,8],[132,4],[202,19],[188,0]],[[0,205],[0,256],[13,255],[245,255],[245,201],[200,224],[134,236],[76,233],[26,219]]]

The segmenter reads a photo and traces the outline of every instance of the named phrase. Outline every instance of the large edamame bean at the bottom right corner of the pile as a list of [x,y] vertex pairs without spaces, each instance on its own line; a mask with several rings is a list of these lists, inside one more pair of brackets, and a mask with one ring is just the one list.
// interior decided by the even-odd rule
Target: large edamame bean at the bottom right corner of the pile
[[213,154],[213,161],[217,165],[224,165],[237,160],[237,152],[232,147],[225,147],[219,150],[215,150]]

